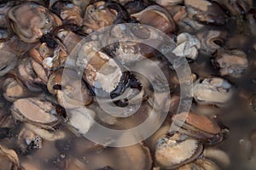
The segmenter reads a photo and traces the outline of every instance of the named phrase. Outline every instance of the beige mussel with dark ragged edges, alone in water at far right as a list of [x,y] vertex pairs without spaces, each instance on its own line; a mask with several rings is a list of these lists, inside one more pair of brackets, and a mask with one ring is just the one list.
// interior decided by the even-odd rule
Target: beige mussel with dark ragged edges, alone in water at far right
[[247,54],[239,49],[219,49],[212,64],[217,66],[221,76],[241,77],[248,66]]

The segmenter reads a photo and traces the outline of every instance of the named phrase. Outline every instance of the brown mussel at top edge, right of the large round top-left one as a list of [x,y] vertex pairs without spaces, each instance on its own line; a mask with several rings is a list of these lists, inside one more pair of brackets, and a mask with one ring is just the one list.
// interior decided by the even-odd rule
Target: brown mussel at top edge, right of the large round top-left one
[[82,10],[79,6],[69,1],[56,1],[51,6],[52,11],[58,15],[63,24],[75,24],[82,26]]

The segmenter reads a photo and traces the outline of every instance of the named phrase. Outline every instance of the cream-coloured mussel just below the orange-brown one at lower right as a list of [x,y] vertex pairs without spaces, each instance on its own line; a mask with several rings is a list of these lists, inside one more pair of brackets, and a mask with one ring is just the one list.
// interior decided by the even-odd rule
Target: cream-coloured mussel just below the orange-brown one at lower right
[[162,167],[177,168],[201,155],[203,146],[181,133],[166,134],[156,144],[154,156]]

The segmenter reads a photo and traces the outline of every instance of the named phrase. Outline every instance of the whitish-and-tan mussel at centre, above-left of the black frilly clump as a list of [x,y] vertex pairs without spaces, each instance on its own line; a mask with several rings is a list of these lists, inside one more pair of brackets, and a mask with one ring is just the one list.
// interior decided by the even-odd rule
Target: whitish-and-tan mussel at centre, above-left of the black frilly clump
[[122,71],[107,54],[97,52],[97,42],[85,43],[79,51],[76,64],[82,68],[90,86],[112,92],[119,84]]

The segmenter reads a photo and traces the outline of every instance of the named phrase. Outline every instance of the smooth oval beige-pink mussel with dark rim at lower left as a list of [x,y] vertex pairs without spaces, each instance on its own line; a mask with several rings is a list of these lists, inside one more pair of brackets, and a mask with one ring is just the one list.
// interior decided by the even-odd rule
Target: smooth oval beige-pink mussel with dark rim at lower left
[[54,130],[62,122],[55,105],[42,98],[17,99],[11,112],[21,122],[29,122],[49,130]]

